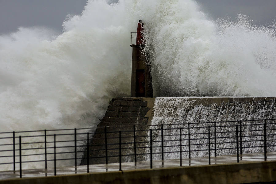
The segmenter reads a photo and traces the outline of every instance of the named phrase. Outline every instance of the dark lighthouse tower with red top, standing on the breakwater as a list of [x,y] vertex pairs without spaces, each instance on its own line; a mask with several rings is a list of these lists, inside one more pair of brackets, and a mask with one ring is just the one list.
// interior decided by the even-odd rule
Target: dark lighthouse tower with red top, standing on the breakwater
[[132,47],[131,97],[153,97],[151,67],[148,56],[143,52],[144,23],[140,20],[137,28],[136,44]]

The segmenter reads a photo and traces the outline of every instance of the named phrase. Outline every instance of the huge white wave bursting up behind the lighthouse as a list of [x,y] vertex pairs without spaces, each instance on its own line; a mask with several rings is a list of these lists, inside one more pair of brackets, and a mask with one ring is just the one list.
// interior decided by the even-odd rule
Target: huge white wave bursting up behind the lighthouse
[[109,2],[88,1],[58,36],[39,27],[0,36],[1,131],[95,127],[109,99],[130,93],[139,19],[155,96],[276,95],[275,25],[215,22],[193,0]]

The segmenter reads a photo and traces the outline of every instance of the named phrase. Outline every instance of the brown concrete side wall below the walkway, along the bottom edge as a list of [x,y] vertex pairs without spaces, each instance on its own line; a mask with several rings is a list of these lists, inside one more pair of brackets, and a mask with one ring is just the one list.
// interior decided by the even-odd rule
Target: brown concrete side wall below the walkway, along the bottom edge
[[276,161],[1,180],[0,184],[241,184],[276,181]]

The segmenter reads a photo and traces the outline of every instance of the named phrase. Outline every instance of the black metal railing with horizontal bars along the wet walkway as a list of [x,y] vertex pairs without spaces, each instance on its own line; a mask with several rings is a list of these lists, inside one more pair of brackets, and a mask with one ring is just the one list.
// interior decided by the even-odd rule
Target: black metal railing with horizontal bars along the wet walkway
[[[95,128],[0,132],[0,166],[12,166],[14,173],[18,172],[19,166],[21,178],[22,166],[29,163],[44,163],[45,170],[50,163],[56,175],[57,162],[71,160],[73,164],[63,165],[75,166],[77,173],[77,164],[84,157],[87,173],[90,161],[99,158],[105,159],[106,166],[109,159],[118,158],[119,171],[125,158],[133,161],[135,166],[138,159],[149,160],[150,168],[154,160],[162,160],[163,167],[164,160],[172,155],[173,159],[179,159],[179,166],[182,166],[183,158],[189,158],[191,165],[191,158],[198,156],[208,156],[211,164],[211,156],[225,153],[236,154],[239,162],[245,153],[263,152],[263,160],[266,161],[266,153],[276,151],[275,120],[192,122],[140,128],[135,125],[121,128],[107,126],[102,127],[104,131],[95,134]],[[90,144],[93,134],[103,135],[104,144]],[[115,143],[110,140],[115,140]],[[103,154],[91,155],[93,151]],[[35,159],[35,156],[38,158]]]

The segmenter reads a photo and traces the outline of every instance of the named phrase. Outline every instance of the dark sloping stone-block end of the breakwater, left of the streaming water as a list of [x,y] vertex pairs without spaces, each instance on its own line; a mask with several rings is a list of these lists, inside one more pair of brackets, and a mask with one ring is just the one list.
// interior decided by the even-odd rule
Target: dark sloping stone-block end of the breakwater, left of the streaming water
[[[109,102],[105,116],[98,124],[96,132],[91,139],[90,150],[98,151],[90,151],[89,163],[105,163],[105,126],[107,130],[108,163],[118,162],[119,158],[114,156],[119,155],[119,146],[112,144],[119,143],[119,131],[122,131],[122,143],[133,142],[133,125],[136,126],[137,130],[141,126],[150,125],[154,100],[155,98],[113,98]],[[136,136],[144,136],[144,132],[138,132]],[[140,141],[140,139],[137,138],[137,141]],[[142,147],[142,145],[137,145],[137,147]],[[124,152],[123,154],[126,153]],[[130,151],[128,154],[132,154],[132,152]],[[139,157],[137,159],[139,160]],[[128,162],[133,161],[133,159],[129,160],[129,158],[122,157],[122,161]],[[86,164],[86,153],[81,164]]]

